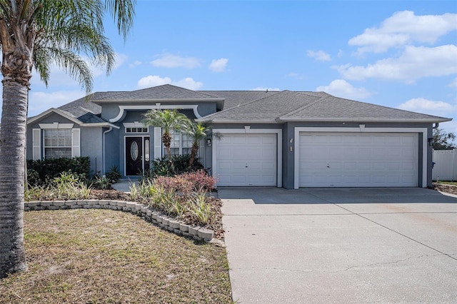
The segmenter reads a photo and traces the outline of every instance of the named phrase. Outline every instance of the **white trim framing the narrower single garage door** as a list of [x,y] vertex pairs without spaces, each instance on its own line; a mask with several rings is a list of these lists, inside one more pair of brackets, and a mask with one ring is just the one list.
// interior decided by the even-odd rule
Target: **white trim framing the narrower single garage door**
[[[215,128],[213,129],[215,133],[221,133],[223,136],[224,134],[257,134],[257,133],[275,133],[276,134],[276,186],[282,187],[283,186],[283,131],[281,128],[251,128],[250,126],[245,126],[244,128]],[[213,176],[216,178],[216,172],[214,171],[217,164],[217,143],[211,145],[213,154],[213,160],[211,166],[213,168]]]

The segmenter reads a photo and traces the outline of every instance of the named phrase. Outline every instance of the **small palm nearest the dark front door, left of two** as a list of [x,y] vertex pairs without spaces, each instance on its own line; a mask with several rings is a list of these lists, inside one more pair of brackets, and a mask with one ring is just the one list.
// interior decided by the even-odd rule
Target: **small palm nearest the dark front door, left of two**
[[162,128],[162,143],[166,148],[166,156],[171,159],[171,131],[184,131],[189,126],[189,118],[183,113],[179,113],[178,109],[174,110],[149,110],[144,114],[144,119],[141,121],[145,126],[156,126]]

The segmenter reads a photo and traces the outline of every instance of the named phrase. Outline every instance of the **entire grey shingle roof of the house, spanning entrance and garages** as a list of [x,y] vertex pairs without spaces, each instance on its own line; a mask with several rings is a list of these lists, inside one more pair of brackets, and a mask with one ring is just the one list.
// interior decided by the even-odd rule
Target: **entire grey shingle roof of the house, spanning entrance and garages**
[[371,103],[352,101],[324,92],[306,91],[192,91],[166,84],[131,92],[96,92],[89,98],[59,107],[84,123],[106,122],[101,106],[109,101],[224,101],[223,111],[201,118],[214,123],[278,123],[281,121],[403,121],[443,122],[450,118],[403,111]]

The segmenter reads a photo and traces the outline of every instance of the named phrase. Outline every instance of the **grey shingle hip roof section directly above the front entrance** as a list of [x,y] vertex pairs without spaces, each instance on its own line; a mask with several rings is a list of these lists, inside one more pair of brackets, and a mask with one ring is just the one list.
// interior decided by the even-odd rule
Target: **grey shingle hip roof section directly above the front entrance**
[[103,103],[105,101],[160,101],[160,100],[219,100],[217,96],[211,96],[208,93],[201,93],[199,91],[188,90],[187,88],[180,88],[179,86],[172,86],[165,84],[163,86],[154,86],[152,88],[143,88],[141,90],[130,92],[119,92],[101,98],[94,99],[95,103]]

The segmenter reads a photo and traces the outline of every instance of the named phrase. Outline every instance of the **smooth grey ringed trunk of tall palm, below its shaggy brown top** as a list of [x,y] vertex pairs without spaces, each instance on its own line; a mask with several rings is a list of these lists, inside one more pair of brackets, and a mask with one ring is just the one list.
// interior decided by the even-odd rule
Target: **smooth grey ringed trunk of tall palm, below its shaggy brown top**
[[0,278],[27,269],[24,175],[29,87],[3,81],[0,129]]

